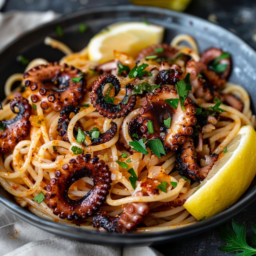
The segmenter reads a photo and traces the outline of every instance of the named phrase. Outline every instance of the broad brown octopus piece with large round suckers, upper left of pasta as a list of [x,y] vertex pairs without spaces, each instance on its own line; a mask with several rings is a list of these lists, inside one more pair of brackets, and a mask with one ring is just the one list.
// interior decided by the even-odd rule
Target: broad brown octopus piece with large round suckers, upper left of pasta
[[61,111],[67,103],[77,106],[85,95],[84,76],[78,69],[67,64],[50,62],[39,65],[24,73],[24,79],[25,85],[34,93],[31,100],[34,103],[41,101],[43,110],[52,106],[53,110]]

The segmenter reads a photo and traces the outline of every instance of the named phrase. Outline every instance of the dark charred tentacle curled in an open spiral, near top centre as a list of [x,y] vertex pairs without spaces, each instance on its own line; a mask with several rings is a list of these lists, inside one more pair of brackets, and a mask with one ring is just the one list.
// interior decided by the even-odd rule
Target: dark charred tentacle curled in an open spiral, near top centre
[[92,93],[90,95],[91,103],[99,114],[104,117],[116,119],[126,116],[136,104],[136,95],[132,94],[134,85],[125,85],[126,94],[122,101],[117,104],[111,104],[106,101],[103,95],[103,89],[105,85],[112,84],[115,89],[115,95],[118,95],[121,85],[119,80],[112,74],[101,75],[92,86]]

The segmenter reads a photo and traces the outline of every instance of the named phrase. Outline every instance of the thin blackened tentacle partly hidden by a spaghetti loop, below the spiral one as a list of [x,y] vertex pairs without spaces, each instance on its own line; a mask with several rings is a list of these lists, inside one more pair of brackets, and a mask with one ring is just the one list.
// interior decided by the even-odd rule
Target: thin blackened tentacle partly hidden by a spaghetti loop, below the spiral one
[[[72,104],[67,104],[64,106],[64,108],[61,110],[60,118],[59,118],[59,125],[57,128],[57,131],[59,132],[59,135],[61,136],[63,141],[69,142],[69,138],[67,135],[68,132],[68,125],[70,122],[70,114],[74,113],[75,115],[79,112],[80,108],[75,108]],[[103,134],[99,134],[99,137],[97,139],[92,139],[92,146],[99,145],[102,143],[106,143],[110,141],[117,132],[117,124],[115,122],[110,123],[110,129],[106,131]],[[78,133],[78,128],[81,128],[82,131],[85,134],[90,134],[89,131],[84,131],[84,128],[80,122],[76,122],[74,129],[73,129],[73,136],[76,138]]]

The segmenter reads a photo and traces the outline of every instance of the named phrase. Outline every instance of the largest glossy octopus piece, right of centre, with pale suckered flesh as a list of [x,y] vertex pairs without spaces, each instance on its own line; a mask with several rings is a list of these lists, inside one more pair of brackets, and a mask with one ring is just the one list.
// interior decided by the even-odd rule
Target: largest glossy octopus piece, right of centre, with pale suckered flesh
[[[137,133],[139,139],[160,139],[166,151],[176,151],[179,145],[185,143],[185,136],[193,134],[191,126],[196,123],[196,108],[192,99],[187,97],[183,106],[179,103],[177,109],[168,104],[165,99],[178,98],[176,87],[169,89],[166,85],[148,93],[142,101],[139,116],[135,117],[128,126],[129,134]],[[164,120],[171,117],[171,126],[167,127]],[[149,133],[148,122],[151,121],[154,133]]]

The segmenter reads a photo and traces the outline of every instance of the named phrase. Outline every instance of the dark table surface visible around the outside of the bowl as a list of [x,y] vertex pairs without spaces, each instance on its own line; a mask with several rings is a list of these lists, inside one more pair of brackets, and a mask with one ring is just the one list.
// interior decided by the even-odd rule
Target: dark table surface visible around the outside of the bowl
[[[127,4],[129,0],[7,0],[1,11],[12,9],[26,11],[48,11],[68,15],[83,8],[109,4]],[[256,0],[192,0],[186,13],[211,19],[236,33],[256,49]],[[251,222],[256,222],[255,203],[234,218],[246,224],[246,237],[252,234]],[[231,220],[227,222],[231,225]],[[153,246],[165,256],[225,256],[217,249],[223,245],[218,229],[196,235],[186,240]],[[236,253],[228,255],[233,256]]]

